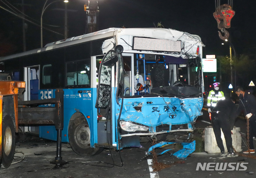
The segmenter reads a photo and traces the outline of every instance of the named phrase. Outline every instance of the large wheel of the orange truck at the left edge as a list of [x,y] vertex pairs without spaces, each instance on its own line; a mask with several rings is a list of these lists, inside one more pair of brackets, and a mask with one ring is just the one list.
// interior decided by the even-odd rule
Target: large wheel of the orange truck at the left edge
[[8,168],[15,151],[15,131],[12,118],[8,115],[2,120],[2,161],[5,168]]

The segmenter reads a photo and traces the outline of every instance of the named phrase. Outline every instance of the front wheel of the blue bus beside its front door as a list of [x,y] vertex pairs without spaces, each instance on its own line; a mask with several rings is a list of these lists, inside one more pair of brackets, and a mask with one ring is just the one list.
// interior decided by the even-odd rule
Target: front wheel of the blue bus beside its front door
[[98,155],[104,148],[91,148],[90,127],[83,116],[70,121],[68,128],[68,140],[73,151],[80,156]]

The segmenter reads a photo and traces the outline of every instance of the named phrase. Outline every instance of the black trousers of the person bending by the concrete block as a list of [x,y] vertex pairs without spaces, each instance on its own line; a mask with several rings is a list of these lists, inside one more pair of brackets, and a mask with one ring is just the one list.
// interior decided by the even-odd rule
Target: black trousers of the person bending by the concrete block
[[232,137],[231,137],[232,133],[230,130],[230,123],[225,113],[221,111],[219,113],[212,112],[212,128],[214,131],[217,145],[220,148],[220,151],[221,152],[225,151],[224,145],[221,139],[221,129],[222,129],[222,132],[226,140],[228,153],[232,153],[233,152]]

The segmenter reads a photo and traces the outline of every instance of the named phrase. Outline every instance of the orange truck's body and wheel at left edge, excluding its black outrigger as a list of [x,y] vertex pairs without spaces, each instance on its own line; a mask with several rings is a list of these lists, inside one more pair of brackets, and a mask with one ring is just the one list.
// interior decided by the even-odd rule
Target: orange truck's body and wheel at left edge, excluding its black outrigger
[[18,101],[22,100],[25,82],[0,81],[0,162],[8,168],[15,151],[18,133]]

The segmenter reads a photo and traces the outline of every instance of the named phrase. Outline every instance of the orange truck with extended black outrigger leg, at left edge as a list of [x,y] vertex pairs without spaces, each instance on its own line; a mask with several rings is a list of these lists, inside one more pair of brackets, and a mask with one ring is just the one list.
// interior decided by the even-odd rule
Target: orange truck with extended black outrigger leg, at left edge
[[[7,79],[7,80],[6,80]],[[22,101],[26,83],[8,80],[0,73],[0,163],[8,168],[15,151],[15,132],[20,125],[55,125],[57,131],[56,157],[51,164],[67,164],[61,156],[61,134],[64,124],[64,91],[56,89],[55,98]],[[38,107],[54,104],[54,107]],[[40,113],[40,115],[38,115]]]

